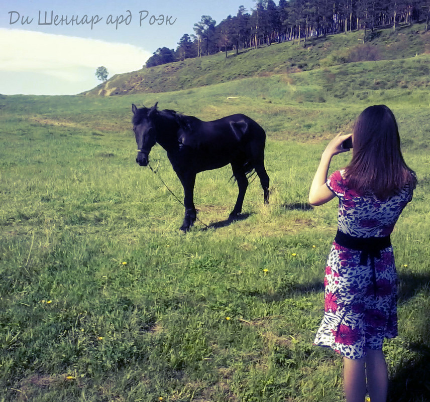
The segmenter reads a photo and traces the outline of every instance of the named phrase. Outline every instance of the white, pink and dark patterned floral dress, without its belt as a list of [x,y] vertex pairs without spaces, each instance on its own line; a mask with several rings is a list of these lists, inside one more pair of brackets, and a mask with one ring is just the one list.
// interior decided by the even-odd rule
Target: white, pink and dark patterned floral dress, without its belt
[[[360,196],[348,188],[343,171],[334,172],[327,186],[339,198],[338,230],[364,238],[388,236],[413,191],[406,186],[387,200]],[[366,348],[382,349],[384,338],[397,336],[396,283],[391,245],[370,264],[363,263],[361,251],[334,241],[324,280],[325,313],[314,344],[351,359],[365,356]]]

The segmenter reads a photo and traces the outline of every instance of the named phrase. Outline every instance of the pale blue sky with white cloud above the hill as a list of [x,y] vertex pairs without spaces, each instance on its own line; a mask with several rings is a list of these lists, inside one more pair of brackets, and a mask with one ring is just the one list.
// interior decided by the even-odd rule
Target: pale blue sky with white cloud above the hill
[[2,0],[0,94],[74,95],[136,71],[160,47],[176,49],[208,15],[217,24],[254,0]]

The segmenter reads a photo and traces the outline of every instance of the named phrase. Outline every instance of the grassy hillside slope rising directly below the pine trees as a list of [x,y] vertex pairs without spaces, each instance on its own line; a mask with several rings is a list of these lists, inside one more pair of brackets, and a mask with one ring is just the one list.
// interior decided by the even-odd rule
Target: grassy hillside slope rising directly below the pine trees
[[424,25],[368,31],[363,44],[363,31],[331,35],[273,44],[259,49],[248,49],[187,59],[157,67],[117,74],[85,95],[125,95],[147,92],[167,92],[229,82],[268,74],[297,73],[335,65],[371,60],[406,59],[430,53],[430,32],[423,34]]

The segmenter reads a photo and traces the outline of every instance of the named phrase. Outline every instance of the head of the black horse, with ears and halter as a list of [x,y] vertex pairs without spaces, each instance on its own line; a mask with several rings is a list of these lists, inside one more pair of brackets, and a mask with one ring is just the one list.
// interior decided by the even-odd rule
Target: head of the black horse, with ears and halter
[[157,113],[157,103],[151,108],[136,107],[132,104],[133,111],[133,131],[136,136],[138,154],[136,162],[140,166],[147,166],[149,162],[149,152],[156,143],[157,131],[154,125],[154,116]]

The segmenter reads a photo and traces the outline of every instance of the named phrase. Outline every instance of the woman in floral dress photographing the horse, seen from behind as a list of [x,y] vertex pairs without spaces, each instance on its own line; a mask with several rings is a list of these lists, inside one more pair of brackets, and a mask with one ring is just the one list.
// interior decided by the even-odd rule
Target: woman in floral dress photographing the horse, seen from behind
[[[327,180],[334,155],[352,137],[353,157]],[[397,335],[396,269],[392,232],[412,199],[415,173],[404,162],[397,122],[385,105],[366,108],[354,133],[336,136],[327,146],[309,192],[312,205],[339,198],[338,232],[325,276],[325,314],[314,344],[344,359],[348,402],[385,402],[388,374],[384,338]],[[367,381],[366,381],[367,380]]]

